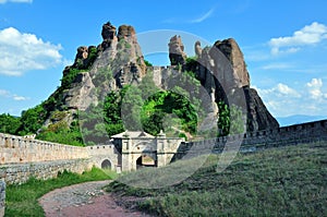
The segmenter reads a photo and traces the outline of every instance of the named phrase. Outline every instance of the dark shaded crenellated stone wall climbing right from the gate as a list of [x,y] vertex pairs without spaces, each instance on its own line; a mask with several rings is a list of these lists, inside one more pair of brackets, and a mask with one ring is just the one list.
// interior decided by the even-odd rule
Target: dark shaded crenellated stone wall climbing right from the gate
[[[315,143],[327,141],[327,120],[294,124],[268,131],[249,132],[231,136],[222,136],[205,141],[194,141],[182,143],[174,155],[172,161],[183,158],[186,154],[201,152],[207,154],[221,153],[231,144],[241,143],[240,152],[249,153],[269,147],[279,147],[305,143]],[[191,154],[192,155],[192,154]]]

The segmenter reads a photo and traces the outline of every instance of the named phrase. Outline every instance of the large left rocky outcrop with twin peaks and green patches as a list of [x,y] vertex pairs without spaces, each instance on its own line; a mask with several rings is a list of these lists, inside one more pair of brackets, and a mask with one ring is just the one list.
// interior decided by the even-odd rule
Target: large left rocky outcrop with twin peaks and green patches
[[52,111],[69,110],[70,124],[77,110],[97,105],[109,92],[138,83],[145,75],[146,65],[133,26],[122,25],[117,32],[108,22],[102,25],[101,36],[98,46],[78,47],[74,63],[63,70],[60,88],[45,106],[49,111],[45,126],[52,123]]

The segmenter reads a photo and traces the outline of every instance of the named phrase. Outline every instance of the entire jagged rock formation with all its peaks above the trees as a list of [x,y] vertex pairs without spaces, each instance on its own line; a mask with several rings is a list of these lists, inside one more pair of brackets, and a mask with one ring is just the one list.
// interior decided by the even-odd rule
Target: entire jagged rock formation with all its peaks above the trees
[[[97,105],[111,91],[124,85],[140,83],[148,71],[133,26],[122,25],[117,28],[106,23],[101,31],[102,43],[96,46],[77,48],[75,61],[63,71],[61,86],[49,97],[45,107],[49,111],[66,111],[69,123],[75,119],[77,110],[85,110]],[[211,103],[226,100],[227,96],[242,92],[246,98],[247,130],[278,128],[278,122],[269,113],[257,93],[250,87],[250,75],[243,53],[234,39],[218,40],[213,47],[201,48],[195,43],[196,62],[186,61],[184,46],[179,36],[173,36],[168,44],[171,65],[154,72],[155,83],[167,87],[168,75],[192,70],[202,85],[209,93]],[[230,67],[231,65],[231,67]],[[219,112],[214,109],[213,112]],[[50,118],[45,125],[51,123]]]

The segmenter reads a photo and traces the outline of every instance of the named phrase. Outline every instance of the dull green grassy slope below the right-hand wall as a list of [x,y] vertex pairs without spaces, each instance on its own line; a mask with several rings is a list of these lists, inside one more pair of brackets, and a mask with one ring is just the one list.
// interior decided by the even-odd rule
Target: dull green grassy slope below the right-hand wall
[[[326,143],[240,154],[223,172],[216,167],[210,156],[173,186],[145,190],[116,181],[107,191],[126,206],[133,204],[124,198],[133,196],[137,209],[159,216],[327,216]],[[137,180],[143,172],[152,171],[128,176]]]

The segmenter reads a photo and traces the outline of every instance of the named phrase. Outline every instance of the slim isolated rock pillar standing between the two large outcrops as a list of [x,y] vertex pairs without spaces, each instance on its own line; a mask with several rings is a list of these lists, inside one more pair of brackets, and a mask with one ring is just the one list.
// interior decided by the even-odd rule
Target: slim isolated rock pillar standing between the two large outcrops
[[171,37],[168,46],[171,65],[184,64],[186,60],[186,53],[184,52],[184,45],[181,36],[175,35]]

